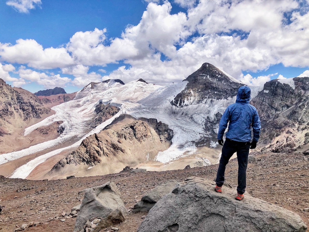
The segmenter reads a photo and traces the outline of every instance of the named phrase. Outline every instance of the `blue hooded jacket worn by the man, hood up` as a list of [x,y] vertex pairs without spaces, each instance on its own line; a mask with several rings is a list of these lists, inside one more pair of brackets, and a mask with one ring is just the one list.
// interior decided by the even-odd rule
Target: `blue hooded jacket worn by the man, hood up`
[[236,103],[229,105],[223,113],[218,131],[218,140],[223,138],[224,131],[229,122],[226,138],[238,142],[249,142],[251,140],[251,127],[253,129],[253,140],[260,138],[261,122],[259,114],[253,105],[249,104],[251,90],[248,86],[238,89]]

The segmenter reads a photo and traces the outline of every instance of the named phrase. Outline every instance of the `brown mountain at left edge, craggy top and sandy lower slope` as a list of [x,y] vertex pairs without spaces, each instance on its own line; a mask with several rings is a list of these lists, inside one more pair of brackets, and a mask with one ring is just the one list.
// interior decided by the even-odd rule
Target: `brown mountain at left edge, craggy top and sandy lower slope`
[[12,88],[0,79],[0,153],[18,150],[31,143],[23,129],[50,114],[50,109],[33,93]]

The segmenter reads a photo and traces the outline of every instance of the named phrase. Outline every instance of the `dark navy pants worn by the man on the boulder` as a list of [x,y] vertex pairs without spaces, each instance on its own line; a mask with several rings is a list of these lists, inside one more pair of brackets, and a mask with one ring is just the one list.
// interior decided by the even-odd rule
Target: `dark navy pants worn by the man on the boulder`
[[219,168],[217,172],[216,184],[221,187],[224,182],[224,172],[227,163],[232,155],[237,153],[238,160],[238,187],[237,192],[243,194],[246,189],[246,171],[248,165],[248,155],[250,142],[237,142],[226,138],[222,147],[222,155],[220,158]]

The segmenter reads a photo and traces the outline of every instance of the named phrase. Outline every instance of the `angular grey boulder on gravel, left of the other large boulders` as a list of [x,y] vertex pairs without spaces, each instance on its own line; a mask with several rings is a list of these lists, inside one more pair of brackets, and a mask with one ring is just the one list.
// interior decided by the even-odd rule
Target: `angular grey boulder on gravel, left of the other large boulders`
[[75,222],[74,232],[84,230],[91,218],[99,217],[104,226],[113,226],[129,216],[120,192],[113,182],[84,190],[84,199]]

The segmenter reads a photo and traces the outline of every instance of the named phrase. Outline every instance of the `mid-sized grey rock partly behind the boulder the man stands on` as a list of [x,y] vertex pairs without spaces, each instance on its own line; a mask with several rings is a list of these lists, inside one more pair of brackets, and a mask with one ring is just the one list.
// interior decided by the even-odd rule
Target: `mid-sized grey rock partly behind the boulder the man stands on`
[[176,184],[178,184],[177,181],[167,181],[166,183],[157,185],[142,196],[142,199],[134,205],[132,212],[149,211],[158,200],[173,190]]

